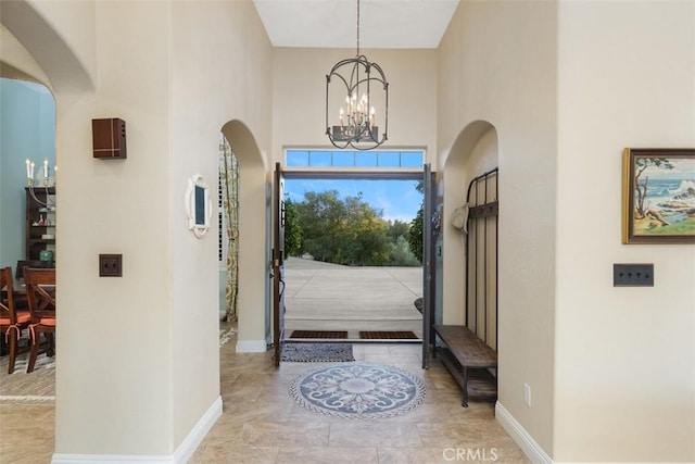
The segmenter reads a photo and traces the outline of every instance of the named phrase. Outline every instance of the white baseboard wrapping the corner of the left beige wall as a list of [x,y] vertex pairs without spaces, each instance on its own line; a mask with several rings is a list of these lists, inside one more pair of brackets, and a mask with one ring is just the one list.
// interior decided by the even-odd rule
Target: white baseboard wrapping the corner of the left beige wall
[[215,422],[222,415],[222,398],[213,402],[207,409],[205,414],[198,421],[191,431],[186,436],[176,452],[170,455],[121,455],[121,454],[53,454],[51,464],[87,464],[87,463],[109,463],[109,464],[186,464],[203,438],[207,435],[210,429],[215,425]]

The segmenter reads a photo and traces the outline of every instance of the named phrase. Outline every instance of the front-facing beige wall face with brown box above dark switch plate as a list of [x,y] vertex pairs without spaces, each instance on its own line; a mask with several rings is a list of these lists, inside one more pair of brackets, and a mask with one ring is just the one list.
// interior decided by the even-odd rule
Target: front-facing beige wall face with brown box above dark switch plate
[[[54,88],[63,256],[55,452],[161,454],[173,449],[165,430],[174,425],[173,389],[165,388],[174,322],[170,12],[162,3],[83,4],[100,24],[91,37],[99,49],[96,90]],[[62,18],[52,17],[58,30]],[[91,156],[90,123],[98,117],[126,121],[127,160]],[[122,278],[99,277],[100,253],[123,253]]]

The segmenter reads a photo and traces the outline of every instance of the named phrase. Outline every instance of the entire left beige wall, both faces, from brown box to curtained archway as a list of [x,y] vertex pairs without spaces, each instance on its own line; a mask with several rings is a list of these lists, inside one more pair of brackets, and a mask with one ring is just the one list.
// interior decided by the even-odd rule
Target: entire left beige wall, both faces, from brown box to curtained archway
[[[267,164],[269,41],[248,1],[11,3],[3,25],[56,100],[56,455],[172,456],[219,401],[216,227],[200,240],[188,231],[187,179],[202,174],[215,191],[229,122],[251,147],[242,179],[244,166]],[[127,122],[127,160],[92,158],[96,117]],[[262,255],[265,238],[245,247]],[[99,253],[123,253],[124,276],[98,277]],[[261,293],[264,304],[265,273],[244,275],[240,312],[263,340],[263,308],[242,301]]]

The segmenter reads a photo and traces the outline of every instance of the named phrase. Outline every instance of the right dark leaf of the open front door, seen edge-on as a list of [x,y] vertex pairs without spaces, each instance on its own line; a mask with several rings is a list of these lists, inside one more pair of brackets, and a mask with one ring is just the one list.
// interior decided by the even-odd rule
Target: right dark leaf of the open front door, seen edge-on
[[422,172],[422,368],[429,368],[434,343],[434,173],[430,164]]

